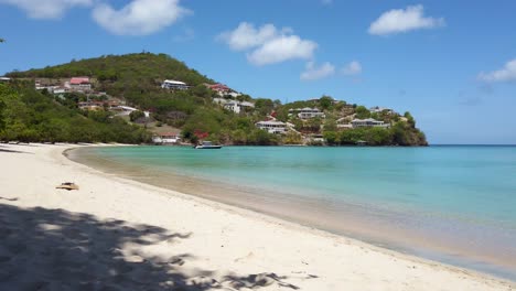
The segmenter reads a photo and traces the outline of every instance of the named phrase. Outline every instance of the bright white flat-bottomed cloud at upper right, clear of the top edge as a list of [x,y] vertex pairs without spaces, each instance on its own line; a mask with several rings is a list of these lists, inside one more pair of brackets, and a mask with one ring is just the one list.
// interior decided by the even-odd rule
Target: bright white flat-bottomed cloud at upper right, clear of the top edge
[[406,9],[393,9],[384,12],[369,26],[369,33],[387,35],[408,32],[418,29],[433,29],[443,26],[444,19],[428,18],[423,15],[423,7],[409,6]]

